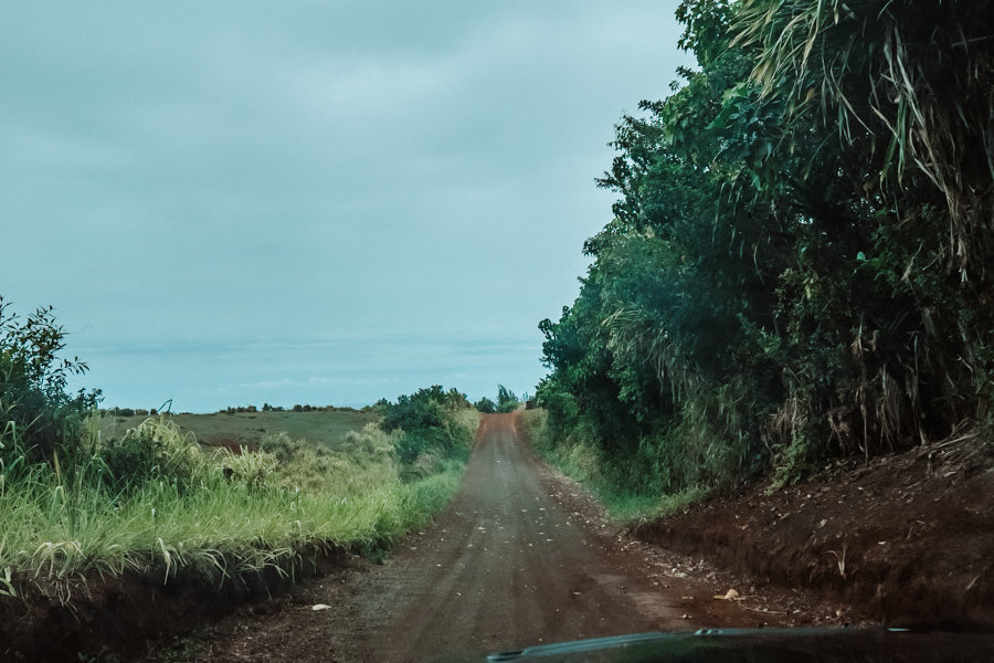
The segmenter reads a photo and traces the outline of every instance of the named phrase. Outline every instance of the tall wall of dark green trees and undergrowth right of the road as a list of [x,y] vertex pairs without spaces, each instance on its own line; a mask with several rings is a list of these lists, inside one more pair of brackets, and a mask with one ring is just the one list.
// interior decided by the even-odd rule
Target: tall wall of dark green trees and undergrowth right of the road
[[990,433],[987,10],[681,2],[698,67],[617,125],[613,219],[540,324],[539,448],[652,513]]

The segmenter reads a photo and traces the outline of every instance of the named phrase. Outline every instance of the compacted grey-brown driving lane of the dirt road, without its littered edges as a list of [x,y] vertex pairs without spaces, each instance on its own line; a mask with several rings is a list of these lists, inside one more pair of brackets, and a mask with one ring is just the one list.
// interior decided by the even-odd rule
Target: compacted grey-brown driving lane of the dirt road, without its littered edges
[[512,415],[484,420],[452,509],[383,573],[399,601],[378,659],[686,628],[678,607],[612,564],[529,461]]

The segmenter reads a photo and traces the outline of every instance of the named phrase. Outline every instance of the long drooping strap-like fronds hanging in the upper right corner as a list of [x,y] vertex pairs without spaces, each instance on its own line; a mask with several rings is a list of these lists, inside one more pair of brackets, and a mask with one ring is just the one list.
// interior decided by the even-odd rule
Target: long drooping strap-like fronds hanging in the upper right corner
[[[994,2],[745,0],[737,43],[759,48],[753,77],[796,118],[819,107],[868,145],[879,182],[924,175],[949,207],[949,248],[965,281],[994,241]],[[879,182],[875,181],[879,178]]]

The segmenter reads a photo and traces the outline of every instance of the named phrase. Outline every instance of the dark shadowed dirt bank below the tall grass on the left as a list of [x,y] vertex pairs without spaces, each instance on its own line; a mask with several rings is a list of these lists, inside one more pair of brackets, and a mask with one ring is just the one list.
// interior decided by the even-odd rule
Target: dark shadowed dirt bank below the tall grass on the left
[[[0,601],[0,661],[140,660],[149,649],[186,636],[246,606],[265,606],[298,581],[340,572],[342,550],[276,570],[218,569],[172,575],[166,569],[117,577],[39,578]],[[258,608],[264,610],[265,608]]]

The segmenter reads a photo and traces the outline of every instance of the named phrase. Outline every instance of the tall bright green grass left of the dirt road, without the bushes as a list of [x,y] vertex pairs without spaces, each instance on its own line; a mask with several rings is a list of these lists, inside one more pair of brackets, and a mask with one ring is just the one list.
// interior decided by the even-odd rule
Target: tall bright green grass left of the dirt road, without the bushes
[[[475,415],[457,413],[467,431]],[[432,473],[405,478],[393,453],[400,433],[376,424],[336,451],[278,433],[244,455],[204,453],[168,417],[109,443],[97,430],[73,464],[0,467],[0,578],[10,578],[0,593],[129,570],[163,582],[189,571],[284,572],[335,549],[381,556],[444,507],[464,469],[440,459]],[[124,478],[108,459],[128,469]]]

